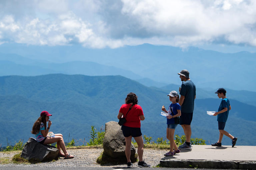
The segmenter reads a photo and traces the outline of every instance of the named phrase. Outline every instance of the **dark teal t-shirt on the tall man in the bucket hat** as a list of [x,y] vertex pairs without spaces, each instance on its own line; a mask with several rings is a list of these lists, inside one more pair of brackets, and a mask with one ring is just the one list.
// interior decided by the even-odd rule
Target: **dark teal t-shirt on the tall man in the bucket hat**
[[194,101],[196,95],[196,86],[191,80],[187,80],[181,85],[180,95],[185,96],[184,102],[181,105],[181,112],[193,113]]

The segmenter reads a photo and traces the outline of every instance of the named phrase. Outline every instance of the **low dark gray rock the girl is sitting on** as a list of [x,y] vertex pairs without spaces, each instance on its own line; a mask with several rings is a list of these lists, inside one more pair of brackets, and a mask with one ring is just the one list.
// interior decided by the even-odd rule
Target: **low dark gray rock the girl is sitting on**
[[33,137],[30,137],[25,144],[20,157],[33,161],[51,161],[58,157],[59,149],[51,145],[38,143]]

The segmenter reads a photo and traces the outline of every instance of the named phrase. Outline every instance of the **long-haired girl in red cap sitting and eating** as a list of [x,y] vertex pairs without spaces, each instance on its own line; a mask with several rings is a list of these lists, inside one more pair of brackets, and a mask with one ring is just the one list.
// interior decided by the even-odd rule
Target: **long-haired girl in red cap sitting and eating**
[[[52,116],[47,111],[43,111],[40,114],[40,117],[37,119],[37,121],[34,123],[31,133],[35,134],[36,141],[41,144],[51,144],[54,142],[57,142],[57,148],[59,149],[59,155],[60,157],[64,157],[64,159],[70,159],[74,158],[74,156],[70,155],[65,147],[65,143],[63,140],[62,134],[54,134],[55,136],[47,137],[47,134],[49,132],[50,126],[52,122],[49,120],[49,116]],[[46,122],[48,122],[48,128],[46,128]],[[64,154],[60,151],[60,148],[64,152]]]

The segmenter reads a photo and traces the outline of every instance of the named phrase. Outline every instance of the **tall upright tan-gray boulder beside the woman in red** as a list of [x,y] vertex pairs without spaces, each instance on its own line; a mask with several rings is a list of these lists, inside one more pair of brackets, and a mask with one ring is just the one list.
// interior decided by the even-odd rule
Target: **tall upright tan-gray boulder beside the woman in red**
[[[111,121],[105,124],[103,149],[104,154],[113,158],[125,157],[125,138],[117,122]],[[131,144],[131,157],[134,157],[135,152],[135,147]]]

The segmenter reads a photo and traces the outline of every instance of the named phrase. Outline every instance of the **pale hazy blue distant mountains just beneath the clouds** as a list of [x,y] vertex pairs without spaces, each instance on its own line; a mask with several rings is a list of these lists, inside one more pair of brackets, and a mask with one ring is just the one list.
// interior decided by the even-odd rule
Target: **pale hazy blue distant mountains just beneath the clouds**
[[[0,75],[42,75],[49,73],[89,76],[122,75],[146,86],[180,84],[182,69],[190,72],[197,87],[254,91],[256,53],[221,53],[196,47],[142,44],[110,49],[89,49],[80,45],[0,45]],[[23,57],[23,58],[20,58]],[[32,59],[33,58],[33,59]],[[11,62],[6,62],[11,61]],[[4,67],[5,66],[5,67]]]

